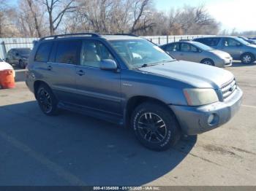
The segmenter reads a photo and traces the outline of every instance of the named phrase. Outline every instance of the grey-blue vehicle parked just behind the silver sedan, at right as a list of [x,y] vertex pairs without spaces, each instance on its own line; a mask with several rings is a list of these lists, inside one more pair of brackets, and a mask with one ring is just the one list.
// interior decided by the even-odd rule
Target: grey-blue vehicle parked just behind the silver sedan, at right
[[234,60],[253,63],[256,58],[256,45],[235,36],[212,36],[194,39],[218,50],[228,52]]

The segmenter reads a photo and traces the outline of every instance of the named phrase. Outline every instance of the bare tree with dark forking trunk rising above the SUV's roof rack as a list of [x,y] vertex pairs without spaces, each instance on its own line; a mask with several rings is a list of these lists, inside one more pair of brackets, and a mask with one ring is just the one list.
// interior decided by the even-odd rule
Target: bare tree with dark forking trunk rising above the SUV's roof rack
[[50,35],[55,34],[61,21],[68,12],[74,12],[74,0],[37,0],[44,5],[48,12]]

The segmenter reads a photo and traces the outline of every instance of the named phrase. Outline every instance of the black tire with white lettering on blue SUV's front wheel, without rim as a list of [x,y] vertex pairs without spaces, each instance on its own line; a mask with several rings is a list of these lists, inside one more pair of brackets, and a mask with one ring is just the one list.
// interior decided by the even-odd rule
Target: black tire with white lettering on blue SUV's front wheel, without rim
[[[162,118],[162,120],[164,120],[167,128],[167,136],[165,139],[163,139],[163,141],[159,143],[151,143],[143,139],[143,137],[140,135],[140,132],[138,131],[138,120],[140,119],[140,116],[146,112],[157,114]],[[164,106],[160,106],[159,104],[146,103],[138,106],[132,114],[131,125],[138,141],[140,141],[140,143],[148,149],[156,151],[169,149],[176,143],[178,139],[179,132],[176,118],[173,116],[173,114],[171,114],[170,110],[165,109]]]

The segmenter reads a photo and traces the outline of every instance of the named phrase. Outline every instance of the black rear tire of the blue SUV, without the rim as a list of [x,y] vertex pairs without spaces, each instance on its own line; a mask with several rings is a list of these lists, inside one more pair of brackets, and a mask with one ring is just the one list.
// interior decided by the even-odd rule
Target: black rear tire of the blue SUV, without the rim
[[[42,105],[40,104],[38,98],[39,98],[39,93],[41,90],[45,90],[47,93],[49,93],[50,95],[50,101],[51,101],[51,104],[52,104],[52,108],[50,110],[50,112],[45,112],[44,109],[42,108]],[[47,85],[40,85],[38,90],[37,90],[37,103],[40,107],[40,109],[42,110],[42,112],[46,115],[55,115],[57,113],[57,104],[58,104],[58,101],[56,100],[56,97],[55,95],[53,94],[52,90],[50,90],[50,87],[48,87]]]

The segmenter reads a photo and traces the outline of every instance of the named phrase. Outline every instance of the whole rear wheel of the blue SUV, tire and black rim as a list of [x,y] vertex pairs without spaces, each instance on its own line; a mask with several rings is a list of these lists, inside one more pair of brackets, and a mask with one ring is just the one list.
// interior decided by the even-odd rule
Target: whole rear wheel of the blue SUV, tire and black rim
[[50,90],[50,87],[48,87],[47,85],[42,84],[39,86],[37,90],[37,102],[44,114],[49,116],[57,114],[58,101],[52,90]]

